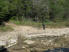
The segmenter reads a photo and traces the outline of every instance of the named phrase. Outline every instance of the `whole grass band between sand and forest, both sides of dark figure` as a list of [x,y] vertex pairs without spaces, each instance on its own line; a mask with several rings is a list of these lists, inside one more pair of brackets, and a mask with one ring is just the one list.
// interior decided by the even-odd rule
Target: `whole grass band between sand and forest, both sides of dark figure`
[[[24,19],[23,21],[11,20],[11,22],[17,25],[33,26],[33,27],[39,27],[39,28],[42,27],[42,23],[34,22],[32,20],[27,20],[27,19]],[[62,27],[69,27],[68,22],[69,21],[60,21],[60,22],[47,21],[45,22],[45,25],[48,28],[62,28]]]

